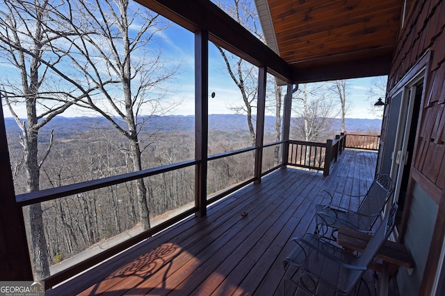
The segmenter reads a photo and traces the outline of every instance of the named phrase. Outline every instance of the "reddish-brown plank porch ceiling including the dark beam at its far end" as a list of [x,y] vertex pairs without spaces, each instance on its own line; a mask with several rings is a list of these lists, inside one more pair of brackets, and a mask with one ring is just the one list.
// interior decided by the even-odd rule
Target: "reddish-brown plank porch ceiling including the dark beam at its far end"
[[[336,79],[385,75],[389,71],[403,1],[268,0],[268,5],[280,56],[298,73],[297,82],[325,77],[309,69],[318,66],[351,67],[337,76],[327,75]],[[372,63],[359,60],[380,62],[373,68]],[[311,77],[305,78],[305,70]]]

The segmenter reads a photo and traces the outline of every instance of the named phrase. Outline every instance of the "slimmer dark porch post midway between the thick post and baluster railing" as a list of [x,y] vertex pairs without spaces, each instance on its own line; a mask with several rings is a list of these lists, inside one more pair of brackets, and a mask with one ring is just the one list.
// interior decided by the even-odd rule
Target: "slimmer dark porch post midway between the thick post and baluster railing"
[[255,137],[255,183],[261,183],[264,143],[264,110],[266,109],[266,76],[267,68],[259,67],[258,101],[257,101],[257,135]]

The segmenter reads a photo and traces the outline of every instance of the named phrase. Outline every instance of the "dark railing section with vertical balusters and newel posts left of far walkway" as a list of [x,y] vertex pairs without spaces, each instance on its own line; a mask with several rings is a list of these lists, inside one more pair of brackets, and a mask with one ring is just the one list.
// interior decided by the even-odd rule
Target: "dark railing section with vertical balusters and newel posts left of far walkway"
[[323,171],[323,175],[327,176],[332,162],[337,162],[339,154],[345,148],[345,139],[346,135],[342,133],[333,140],[328,139],[326,143],[290,140],[286,164]]

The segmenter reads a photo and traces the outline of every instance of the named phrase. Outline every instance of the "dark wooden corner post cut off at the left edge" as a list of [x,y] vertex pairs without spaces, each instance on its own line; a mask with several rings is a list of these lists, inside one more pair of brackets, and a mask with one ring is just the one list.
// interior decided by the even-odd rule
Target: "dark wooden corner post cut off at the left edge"
[[0,279],[32,281],[33,270],[26,242],[23,212],[22,207],[17,207],[15,202],[13,174],[1,105],[0,121]]

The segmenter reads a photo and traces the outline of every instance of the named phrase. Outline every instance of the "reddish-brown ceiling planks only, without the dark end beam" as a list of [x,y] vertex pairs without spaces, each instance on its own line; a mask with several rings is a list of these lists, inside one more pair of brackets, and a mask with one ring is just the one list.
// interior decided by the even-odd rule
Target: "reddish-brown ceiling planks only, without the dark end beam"
[[[280,1],[273,1],[277,2]],[[280,54],[285,60],[286,48],[298,48],[301,43],[310,42],[314,48],[329,49],[326,43],[347,45],[359,39],[369,42],[369,48],[375,48],[373,33],[378,33],[380,39],[394,42],[398,27],[391,30],[388,24],[394,21],[398,24],[400,6],[389,6],[387,1],[373,3],[373,6],[369,1],[350,1],[355,3],[348,2],[347,6],[341,5],[343,1],[327,1],[325,5],[320,2],[309,6],[312,2],[307,1],[290,8],[286,10],[290,12],[286,17],[283,17],[284,12],[275,13],[270,8]]]

